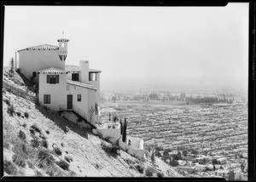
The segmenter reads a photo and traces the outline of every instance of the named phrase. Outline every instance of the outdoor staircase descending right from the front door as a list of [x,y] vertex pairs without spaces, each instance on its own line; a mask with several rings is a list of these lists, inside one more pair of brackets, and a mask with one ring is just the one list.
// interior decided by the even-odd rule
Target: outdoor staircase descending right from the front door
[[91,128],[96,128],[93,124],[88,122],[87,118],[90,118],[84,111],[80,110],[79,107],[73,105],[73,109],[67,109],[67,105],[60,105],[60,111],[72,111],[74,115],[79,117],[80,120],[84,121],[84,123],[89,124]]

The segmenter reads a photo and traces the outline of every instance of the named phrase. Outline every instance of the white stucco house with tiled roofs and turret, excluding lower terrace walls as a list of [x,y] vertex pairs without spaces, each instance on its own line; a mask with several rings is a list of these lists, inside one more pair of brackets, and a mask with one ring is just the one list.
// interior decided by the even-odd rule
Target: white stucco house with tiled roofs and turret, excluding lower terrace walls
[[100,111],[100,73],[88,60],[66,65],[67,38],[59,46],[38,45],[17,51],[20,73],[38,83],[38,100],[51,111],[73,111],[96,126]]

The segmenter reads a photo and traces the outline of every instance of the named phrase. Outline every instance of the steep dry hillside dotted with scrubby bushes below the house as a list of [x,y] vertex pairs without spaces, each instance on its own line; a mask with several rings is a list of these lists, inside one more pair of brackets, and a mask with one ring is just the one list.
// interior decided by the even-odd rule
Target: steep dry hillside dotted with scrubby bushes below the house
[[[181,177],[156,157],[140,162],[120,151],[109,155],[103,139],[88,128],[37,105],[29,82],[16,72],[3,72],[3,160],[5,176]],[[13,105],[13,108],[12,108]]]

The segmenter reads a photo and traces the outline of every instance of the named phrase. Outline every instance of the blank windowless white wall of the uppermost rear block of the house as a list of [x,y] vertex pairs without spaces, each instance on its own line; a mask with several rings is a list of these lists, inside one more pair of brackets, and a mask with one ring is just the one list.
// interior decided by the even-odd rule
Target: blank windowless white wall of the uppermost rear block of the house
[[50,67],[65,70],[65,61],[59,58],[58,50],[22,50],[19,52],[20,72],[27,78],[32,71],[44,70]]

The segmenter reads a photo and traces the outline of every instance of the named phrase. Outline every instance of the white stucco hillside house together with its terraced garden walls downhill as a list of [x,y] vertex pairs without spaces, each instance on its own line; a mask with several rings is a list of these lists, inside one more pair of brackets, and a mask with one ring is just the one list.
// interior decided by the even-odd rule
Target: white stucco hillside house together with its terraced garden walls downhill
[[94,134],[108,138],[132,156],[145,160],[143,139],[127,136],[123,142],[120,123],[100,121],[102,71],[90,69],[88,60],[80,60],[79,65],[66,65],[69,40],[61,38],[57,42],[59,46],[38,45],[20,49],[15,54],[20,73],[37,82],[40,105],[59,111],[71,122],[84,127],[90,125]]

